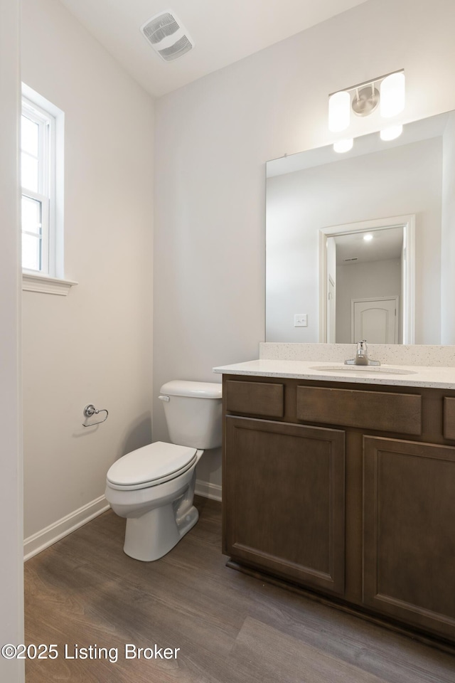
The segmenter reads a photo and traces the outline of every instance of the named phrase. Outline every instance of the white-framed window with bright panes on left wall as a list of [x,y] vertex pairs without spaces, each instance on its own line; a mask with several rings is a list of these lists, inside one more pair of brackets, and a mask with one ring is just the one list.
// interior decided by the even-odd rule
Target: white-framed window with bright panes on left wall
[[[64,282],[63,120],[62,111],[27,85],[22,85],[21,211],[24,289],[43,292],[48,291],[43,288],[44,280]],[[38,277],[39,286],[35,286]],[[67,282],[68,285],[75,284]],[[63,292],[52,290],[51,293]]]

